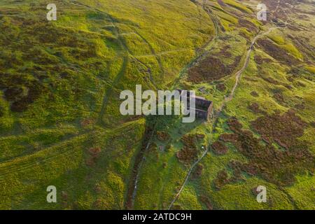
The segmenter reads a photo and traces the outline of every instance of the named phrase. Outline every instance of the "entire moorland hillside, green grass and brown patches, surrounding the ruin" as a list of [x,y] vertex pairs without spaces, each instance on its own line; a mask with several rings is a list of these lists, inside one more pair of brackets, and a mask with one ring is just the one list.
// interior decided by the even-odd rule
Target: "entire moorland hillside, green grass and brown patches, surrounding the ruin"
[[[253,0],[54,3],[0,3],[1,209],[315,209],[311,1],[265,1],[274,22]],[[214,118],[121,116],[137,84]]]

